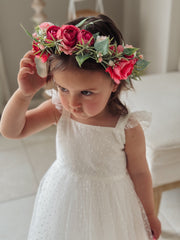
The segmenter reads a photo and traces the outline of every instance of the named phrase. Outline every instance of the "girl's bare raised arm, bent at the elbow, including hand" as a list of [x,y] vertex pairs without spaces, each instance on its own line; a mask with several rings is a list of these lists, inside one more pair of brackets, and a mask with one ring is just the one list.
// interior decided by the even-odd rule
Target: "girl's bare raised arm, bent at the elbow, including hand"
[[38,75],[34,54],[27,52],[20,62],[18,73],[19,88],[7,103],[1,118],[0,132],[8,138],[22,138],[40,131],[57,121],[60,113],[51,100],[39,107],[28,110],[34,94],[46,83]]

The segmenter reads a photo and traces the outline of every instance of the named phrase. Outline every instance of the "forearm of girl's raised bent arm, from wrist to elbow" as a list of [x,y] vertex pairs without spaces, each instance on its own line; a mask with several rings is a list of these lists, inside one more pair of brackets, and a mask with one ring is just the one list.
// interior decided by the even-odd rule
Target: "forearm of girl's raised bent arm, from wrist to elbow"
[[33,96],[24,96],[20,89],[17,89],[4,108],[0,132],[8,138],[18,138],[26,122],[26,111]]

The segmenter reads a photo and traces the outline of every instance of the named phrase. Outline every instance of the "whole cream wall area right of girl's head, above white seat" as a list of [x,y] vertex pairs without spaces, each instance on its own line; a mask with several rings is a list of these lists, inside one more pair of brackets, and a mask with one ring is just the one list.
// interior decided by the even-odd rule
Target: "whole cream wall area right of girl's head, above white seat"
[[124,0],[124,36],[151,62],[147,73],[178,69],[179,12],[179,0]]

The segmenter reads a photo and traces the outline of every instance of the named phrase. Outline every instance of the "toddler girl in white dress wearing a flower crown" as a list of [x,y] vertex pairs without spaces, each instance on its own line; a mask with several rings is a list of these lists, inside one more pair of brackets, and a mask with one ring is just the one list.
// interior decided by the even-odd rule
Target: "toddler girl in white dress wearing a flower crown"
[[[45,22],[32,38],[33,50],[20,62],[19,88],[1,119],[9,138],[57,124],[57,159],[41,180],[28,240],[158,238],[139,115],[119,100],[147,62],[104,15],[62,27]],[[47,62],[47,77],[38,75],[35,56]],[[57,87],[52,101],[27,110],[50,80]]]

